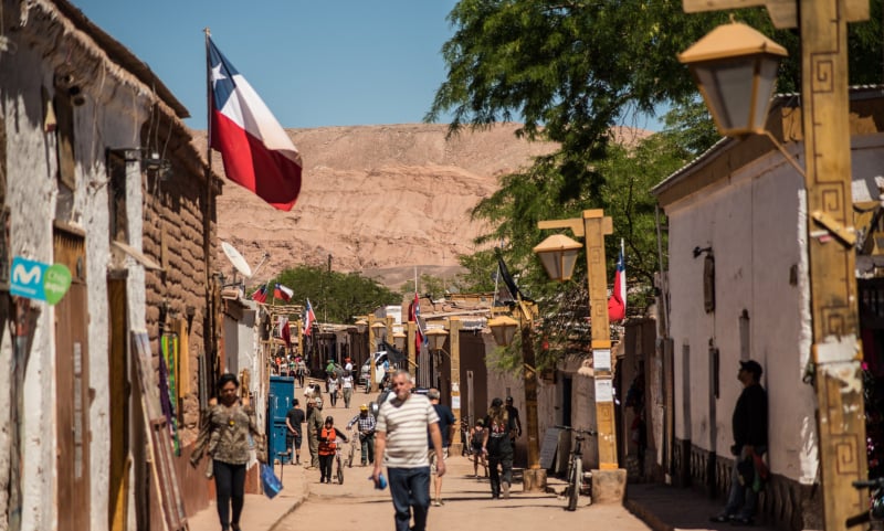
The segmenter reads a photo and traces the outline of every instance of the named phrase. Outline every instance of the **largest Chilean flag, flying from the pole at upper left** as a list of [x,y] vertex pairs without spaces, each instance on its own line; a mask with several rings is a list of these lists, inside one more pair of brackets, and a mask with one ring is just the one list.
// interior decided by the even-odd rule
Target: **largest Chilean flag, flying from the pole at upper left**
[[292,210],[301,192],[301,153],[211,39],[208,46],[211,148],[224,159],[228,179],[275,209]]

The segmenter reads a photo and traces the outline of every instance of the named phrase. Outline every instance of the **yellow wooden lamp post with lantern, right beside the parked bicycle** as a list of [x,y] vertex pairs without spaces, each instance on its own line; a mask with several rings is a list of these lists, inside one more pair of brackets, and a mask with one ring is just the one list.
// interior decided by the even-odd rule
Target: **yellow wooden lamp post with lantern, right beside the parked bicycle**
[[[599,470],[593,471],[592,484],[611,489],[600,497],[622,497],[625,470],[617,460],[614,433],[614,404],[611,373],[611,327],[608,320],[608,280],[604,263],[604,236],[613,233],[613,223],[601,210],[585,210],[580,217],[540,221],[538,229],[570,229],[575,236],[583,237],[587,254],[587,284],[589,287],[589,315],[591,318],[592,360],[596,383],[596,429],[599,433]],[[547,274],[554,280],[571,277],[580,244],[555,235],[534,247]],[[569,269],[564,268],[569,265]]]

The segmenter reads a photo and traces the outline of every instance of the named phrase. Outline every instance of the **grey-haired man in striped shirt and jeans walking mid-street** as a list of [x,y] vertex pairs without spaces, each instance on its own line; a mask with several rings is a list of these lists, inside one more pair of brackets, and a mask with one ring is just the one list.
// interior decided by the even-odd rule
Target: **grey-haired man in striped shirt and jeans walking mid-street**
[[[430,461],[427,459],[427,431],[433,440],[436,476],[445,474],[442,434],[433,405],[421,394],[411,394],[411,375],[399,370],[392,376],[396,397],[386,401],[378,412],[375,449],[382,456],[390,478],[390,495],[396,509],[397,531],[424,531],[430,508]],[[371,477],[380,481],[381,459],[375,459]],[[411,518],[414,525],[409,527]]]

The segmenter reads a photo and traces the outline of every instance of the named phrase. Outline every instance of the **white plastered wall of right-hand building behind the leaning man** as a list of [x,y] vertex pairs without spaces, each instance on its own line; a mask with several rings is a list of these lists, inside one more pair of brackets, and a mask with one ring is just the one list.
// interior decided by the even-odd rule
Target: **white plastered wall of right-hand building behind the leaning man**
[[[880,136],[854,141],[860,189],[876,190],[874,177],[884,168],[881,145]],[[803,158],[801,146],[792,152]],[[818,452],[815,396],[802,382],[812,343],[806,211],[803,178],[779,155],[666,206],[676,437],[729,455],[730,416],[741,391],[736,375],[745,309],[749,355],[765,368],[761,383],[770,402],[770,467],[801,484],[813,481]],[[713,314],[703,309],[704,262],[693,257],[697,246],[712,246],[715,255]],[[797,273],[794,284],[790,269]],[[714,401],[711,340],[720,360],[720,394]]]

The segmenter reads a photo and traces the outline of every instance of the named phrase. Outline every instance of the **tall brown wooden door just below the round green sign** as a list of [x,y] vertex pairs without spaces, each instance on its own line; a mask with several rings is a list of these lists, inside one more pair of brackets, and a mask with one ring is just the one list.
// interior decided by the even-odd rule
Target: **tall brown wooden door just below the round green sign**
[[71,289],[55,305],[55,414],[59,529],[90,529],[90,425],[86,255],[83,235],[56,227],[55,263]]

